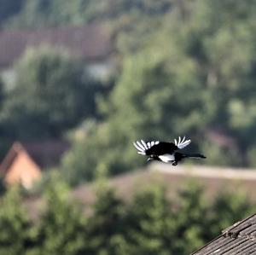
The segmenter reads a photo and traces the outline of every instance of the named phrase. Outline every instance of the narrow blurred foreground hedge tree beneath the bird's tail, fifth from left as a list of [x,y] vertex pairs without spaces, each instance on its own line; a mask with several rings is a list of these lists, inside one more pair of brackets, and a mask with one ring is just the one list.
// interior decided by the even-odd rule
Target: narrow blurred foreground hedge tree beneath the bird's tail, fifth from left
[[172,235],[176,238],[172,243],[173,254],[189,254],[213,238],[208,231],[209,206],[198,183],[189,181],[180,189],[173,215],[175,227]]

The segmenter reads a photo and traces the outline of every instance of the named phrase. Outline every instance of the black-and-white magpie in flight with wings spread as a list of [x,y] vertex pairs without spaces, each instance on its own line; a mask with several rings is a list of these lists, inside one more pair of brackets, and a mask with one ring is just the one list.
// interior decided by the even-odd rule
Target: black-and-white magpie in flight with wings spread
[[206,157],[202,154],[186,154],[177,152],[177,150],[185,148],[189,145],[191,140],[186,140],[186,137],[183,136],[181,139],[178,136],[178,140],[174,139],[173,142],[144,142],[136,141],[133,142],[135,148],[137,148],[137,153],[148,156],[148,161],[150,160],[158,160],[165,163],[172,163],[172,165],[177,165],[177,162],[186,159],[206,159]]

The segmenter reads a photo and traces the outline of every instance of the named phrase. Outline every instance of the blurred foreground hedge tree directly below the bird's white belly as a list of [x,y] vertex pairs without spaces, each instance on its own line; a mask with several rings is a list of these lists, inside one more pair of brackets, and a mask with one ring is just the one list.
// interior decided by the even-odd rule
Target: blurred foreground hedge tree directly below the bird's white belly
[[127,217],[127,254],[172,254],[177,241],[173,235],[174,215],[163,186],[155,184],[135,194]]

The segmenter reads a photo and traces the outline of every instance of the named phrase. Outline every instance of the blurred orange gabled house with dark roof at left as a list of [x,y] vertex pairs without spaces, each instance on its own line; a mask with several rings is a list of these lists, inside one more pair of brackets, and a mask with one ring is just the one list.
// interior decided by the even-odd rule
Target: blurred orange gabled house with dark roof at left
[[3,182],[7,185],[20,183],[24,188],[31,188],[41,178],[44,169],[60,163],[67,148],[67,142],[60,141],[24,145],[15,142],[0,165]]

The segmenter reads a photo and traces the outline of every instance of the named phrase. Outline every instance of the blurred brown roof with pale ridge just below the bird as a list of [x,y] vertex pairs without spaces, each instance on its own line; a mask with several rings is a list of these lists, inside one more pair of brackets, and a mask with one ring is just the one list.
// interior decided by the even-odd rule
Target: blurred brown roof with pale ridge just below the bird
[[[213,167],[206,165],[172,165],[152,163],[148,170],[132,171],[110,179],[109,184],[120,197],[130,200],[132,195],[150,187],[152,184],[163,184],[170,200],[176,199],[178,190],[187,187],[190,183],[198,183],[209,200],[221,191],[237,192],[241,189],[249,200],[256,202],[256,171]],[[88,184],[81,185],[73,190],[76,199],[84,205],[94,202],[95,194]]]

